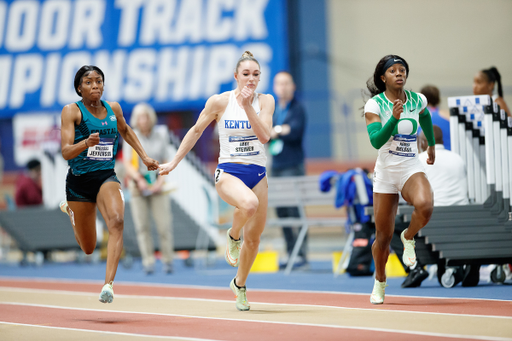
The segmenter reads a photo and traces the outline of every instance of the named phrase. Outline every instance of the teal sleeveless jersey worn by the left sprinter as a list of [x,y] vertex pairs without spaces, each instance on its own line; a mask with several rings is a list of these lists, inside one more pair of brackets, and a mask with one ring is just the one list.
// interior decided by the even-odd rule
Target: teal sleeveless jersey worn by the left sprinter
[[75,126],[74,143],[85,140],[94,133],[99,133],[100,143],[68,161],[75,175],[114,168],[118,145],[117,118],[106,101],[102,100],[101,103],[107,109],[107,116],[103,120],[94,117],[81,101],[76,102],[82,113],[82,120]]

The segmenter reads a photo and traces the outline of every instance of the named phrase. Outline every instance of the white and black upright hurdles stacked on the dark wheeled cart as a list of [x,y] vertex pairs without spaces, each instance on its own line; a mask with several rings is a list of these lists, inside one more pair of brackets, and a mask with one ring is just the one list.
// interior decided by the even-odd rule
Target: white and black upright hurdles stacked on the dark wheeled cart
[[468,197],[512,224],[512,119],[490,96],[448,98],[452,151],[466,163]]

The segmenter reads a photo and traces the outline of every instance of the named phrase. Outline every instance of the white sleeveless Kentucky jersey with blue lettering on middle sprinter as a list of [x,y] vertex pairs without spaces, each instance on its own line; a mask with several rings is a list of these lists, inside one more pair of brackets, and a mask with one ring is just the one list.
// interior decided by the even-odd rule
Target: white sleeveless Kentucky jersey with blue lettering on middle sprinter
[[[254,93],[252,107],[260,113],[257,93]],[[229,94],[229,103],[219,121],[219,143],[219,163],[241,162],[266,167],[265,147],[254,134],[245,110],[238,105],[235,91]]]

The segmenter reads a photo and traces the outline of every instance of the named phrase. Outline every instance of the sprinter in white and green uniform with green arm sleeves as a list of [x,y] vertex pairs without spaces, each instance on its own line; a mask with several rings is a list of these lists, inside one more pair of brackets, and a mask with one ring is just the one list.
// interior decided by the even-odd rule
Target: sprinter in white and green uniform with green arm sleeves
[[427,164],[434,164],[435,140],[427,99],[422,94],[404,90],[409,65],[396,55],[382,58],[367,83],[372,98],[364,106],[370,142],[379,150],[374,171],[373,207],[375,242],[375,283],[370,302],[384,302],[386,262],[389,244],[395,228],[398,192],[414,206],[409,227],[401,234],[404,244],[403,261],[416,265],[414,236],[432,215],[434,199],[424,165],[418,160],[416,135],[421,126],[428,141]]

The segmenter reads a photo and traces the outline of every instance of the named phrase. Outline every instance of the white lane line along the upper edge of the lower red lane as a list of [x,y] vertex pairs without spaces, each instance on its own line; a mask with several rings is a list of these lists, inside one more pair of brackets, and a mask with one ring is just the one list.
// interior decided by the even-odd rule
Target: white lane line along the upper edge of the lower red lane
[[260,323],[260,324],[294,325],[294,326],[319,327],[319,328],[369,330],[369,331],[375,331],[375,332],[398,333],[398,334],[407,334],[407,335],[412,334],[412,335],[422,335],[422,336],[464,338],[464,339],[468,339],[468,340],[512,341],[512,338],[484,336],[484,335],[445,334],[445,333],[420,332],[420,331],[412,331],[412,330],[406,331],[406,330],[400,330],[400,329],[354,327],[354,326],[299,323],[299,322],[260,321],[260,320],[234,319],[234,318],[224,318],[224,317],[191,316],[191,315],[182,315],[182,314],[148,313],[148,312],[134,312],[134,311],[121,311],[121,310],[108,310],[107,311],[107,310],[101,310],[101,309],[69,308],[69,307],[60,307],[60,306],[53,306],[53,305],[46,305],[46,304],[26,304],[26,303],[17,303],[17,302],[2,302],[0,304],[41,307],[41,308],[50,308],[50,309],[62,309],[62,310],[90,311],[90,312],[95,312],[95,313],[108,312],[108,313],[119,313],[119,314],[140,314],[140,315],[152,315],[152,316],[185,317],[185,318],[197,318],[197,319],[204,319],[204,320],[218,320],[218,321],[230,321],[230,322],[250,322],[250,323]]

